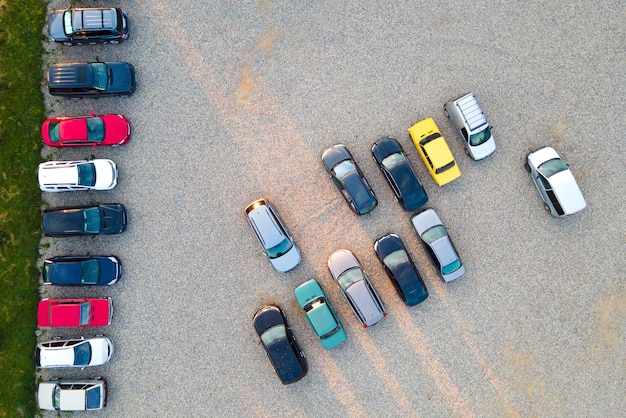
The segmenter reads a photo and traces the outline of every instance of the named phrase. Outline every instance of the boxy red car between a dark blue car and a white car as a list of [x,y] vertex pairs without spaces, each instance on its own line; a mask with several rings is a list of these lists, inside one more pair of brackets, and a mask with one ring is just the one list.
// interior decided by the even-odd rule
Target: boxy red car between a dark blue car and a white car
[[40,327],[106,327],[112,316],[111,298],[42,299],[37,307]]

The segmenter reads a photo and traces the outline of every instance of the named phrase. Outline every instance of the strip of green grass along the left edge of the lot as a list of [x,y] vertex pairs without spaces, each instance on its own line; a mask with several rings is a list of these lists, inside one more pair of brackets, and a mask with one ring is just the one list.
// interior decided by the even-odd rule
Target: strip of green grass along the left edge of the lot
[[45,15],[44,1],[0,0],[0,417],[37,414]]

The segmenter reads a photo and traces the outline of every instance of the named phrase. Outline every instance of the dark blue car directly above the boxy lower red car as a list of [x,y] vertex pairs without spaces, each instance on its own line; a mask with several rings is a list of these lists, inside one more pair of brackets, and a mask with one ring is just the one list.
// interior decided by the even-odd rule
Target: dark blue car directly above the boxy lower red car
[[44,260],[43,283],[57,286],[108,286],[122,275],[115,256],[57,256]]

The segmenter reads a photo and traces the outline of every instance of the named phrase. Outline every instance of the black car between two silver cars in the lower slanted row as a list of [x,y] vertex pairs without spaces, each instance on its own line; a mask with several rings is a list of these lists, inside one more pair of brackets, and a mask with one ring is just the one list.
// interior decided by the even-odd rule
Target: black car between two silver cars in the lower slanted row
[[414,306],[428,298],[424,280],[400,237],[388,234],[377,239],[374,251],[404,303]]

